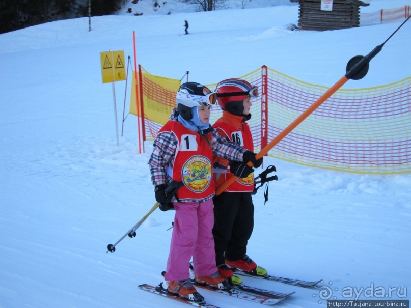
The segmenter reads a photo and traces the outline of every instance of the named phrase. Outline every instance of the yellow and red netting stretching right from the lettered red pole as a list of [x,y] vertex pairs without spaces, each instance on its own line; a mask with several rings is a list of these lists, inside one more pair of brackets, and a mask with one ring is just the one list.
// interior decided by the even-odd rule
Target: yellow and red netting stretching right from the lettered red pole
[[[271,140],[328,89],[268,72]],[[411,171],[410,151],[411,77],[338,90],[268,154],[325,169],[394,174]]]

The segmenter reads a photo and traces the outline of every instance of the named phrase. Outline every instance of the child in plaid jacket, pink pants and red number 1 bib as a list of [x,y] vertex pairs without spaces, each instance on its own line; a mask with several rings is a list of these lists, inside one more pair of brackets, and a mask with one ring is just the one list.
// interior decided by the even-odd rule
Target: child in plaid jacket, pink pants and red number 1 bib
[[[197,282],[231,289],[215,264],[213,156],[244,166],[250,160],[255,162],[256,155],[216,134],[209,124],[211,104],[215,101],[216,93],[207,87],[196,82],[183,83],[177,92],[177,108],[158,132],[148,162],[157,202],[172,201],[176,211],[165,282],[160,286],[199,303],[204,297],[189,279],[191,257]],[[184,184],[176,197],[166,194],[172,180]]]

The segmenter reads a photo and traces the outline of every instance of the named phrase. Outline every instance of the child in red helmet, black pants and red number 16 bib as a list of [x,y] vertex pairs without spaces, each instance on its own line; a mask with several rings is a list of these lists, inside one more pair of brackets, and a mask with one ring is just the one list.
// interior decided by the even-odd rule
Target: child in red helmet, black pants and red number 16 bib
[[[223,116],[213,128],[222,137],[237,142],[249,151],[254,151],[249,125],[251,98],[258,97],[258,88],[243,79],[226,79],[216,87],[217,100],[223,109]],[[254,167],[259,167],[262,158]],[[213,178],[216,188],[238,174],[238,162],[214,158]],[[254,205],[251,192],[254,190],[253,169],[246,166],[250,175],[239,178],[220,195],[213,197],[216,264],[218,272],[225,277],[233,276],[230,268],[238,268],[253,274],[264,275],[267,271],[246,255],[247,243],[254,228]],[[234,281],[233,281],[234,283]]]

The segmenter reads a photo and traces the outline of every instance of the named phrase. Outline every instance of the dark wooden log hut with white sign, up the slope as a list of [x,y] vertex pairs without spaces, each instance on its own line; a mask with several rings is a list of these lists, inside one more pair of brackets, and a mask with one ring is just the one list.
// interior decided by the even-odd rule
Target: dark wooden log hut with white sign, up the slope
[[360,26],[361,0],[290,0],[299,3],[298,29],[337,30]]

